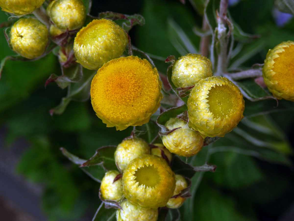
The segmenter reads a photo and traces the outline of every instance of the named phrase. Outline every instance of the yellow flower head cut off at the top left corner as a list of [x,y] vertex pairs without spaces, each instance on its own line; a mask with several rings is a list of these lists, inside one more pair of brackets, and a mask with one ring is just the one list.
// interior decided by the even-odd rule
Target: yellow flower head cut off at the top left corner
[[39,8],[45,0],[0,0],[2,11],[15,15],[24,15]]

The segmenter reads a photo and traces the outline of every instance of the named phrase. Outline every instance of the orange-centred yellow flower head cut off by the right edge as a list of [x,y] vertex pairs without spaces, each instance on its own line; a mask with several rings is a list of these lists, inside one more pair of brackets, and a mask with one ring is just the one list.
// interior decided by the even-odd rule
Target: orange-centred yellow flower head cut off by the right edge
[[268,90],[278,99],[294,101],[294,42],[282,42],[269,50],[262,69]]

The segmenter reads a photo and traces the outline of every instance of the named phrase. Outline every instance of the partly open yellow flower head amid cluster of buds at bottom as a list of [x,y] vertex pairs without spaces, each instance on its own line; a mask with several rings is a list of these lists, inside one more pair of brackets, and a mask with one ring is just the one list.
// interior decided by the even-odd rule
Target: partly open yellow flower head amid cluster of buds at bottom
[[159,156],[139,156],[123,171],[123,194],[134,205],[163,207],[173,196],[175,187],[175,174]]

